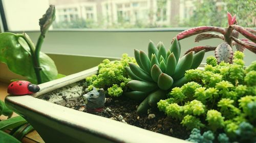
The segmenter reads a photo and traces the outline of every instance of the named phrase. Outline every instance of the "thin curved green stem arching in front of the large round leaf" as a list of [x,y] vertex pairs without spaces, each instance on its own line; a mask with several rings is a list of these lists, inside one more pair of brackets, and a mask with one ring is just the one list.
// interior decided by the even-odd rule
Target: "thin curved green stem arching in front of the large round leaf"
[[27,39],[26,35],[19,34],[18,37],[22,37],[29,46],[31,58],[32,58],[33,66],[34,66],[34,71],[35,71],[35,75],[36,75],[36,79],[37,79],[37,84],[40,84],[40,83],[42,83],[41,74],[40,74],[41,68],[39,66],[39,60],[37,61],[37,58],[35,56],[34,45],[33,45],[32,41]]

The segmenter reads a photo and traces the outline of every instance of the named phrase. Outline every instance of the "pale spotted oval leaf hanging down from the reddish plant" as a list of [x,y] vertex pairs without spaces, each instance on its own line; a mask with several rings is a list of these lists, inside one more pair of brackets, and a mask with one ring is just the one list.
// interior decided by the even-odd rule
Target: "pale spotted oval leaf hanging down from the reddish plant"
[[221,61],[224,61],[225,63],[232,63],[233,50],[227,42],[223,42],[215,49],[215,57],[218,63]]

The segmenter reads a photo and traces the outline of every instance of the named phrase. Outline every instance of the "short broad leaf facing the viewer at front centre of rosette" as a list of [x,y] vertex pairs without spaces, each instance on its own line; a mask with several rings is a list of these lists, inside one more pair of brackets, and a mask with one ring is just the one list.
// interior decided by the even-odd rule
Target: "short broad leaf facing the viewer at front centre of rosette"
[[174,83],[173,78],[165,73],[161,73],[158,77],[157,84],[158,84],[158,87],[162,90],[170,89],[170,87],[172,87],[173,83]]

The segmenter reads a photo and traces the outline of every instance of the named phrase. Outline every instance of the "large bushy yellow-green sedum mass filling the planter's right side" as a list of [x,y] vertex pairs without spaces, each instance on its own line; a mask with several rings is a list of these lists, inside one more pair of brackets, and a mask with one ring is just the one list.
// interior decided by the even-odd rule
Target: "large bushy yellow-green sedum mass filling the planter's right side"
[[256,62],[245,69],[240,51],[234,53],[233,64],[218,65],[213,56],[206,61],[204,70],[187,70],[185,77],[190,82],[173,88],[168,99],[157,103],[158,108],[188,130],[224,131],[231,141],[240,140],[241,124],[256,124]]

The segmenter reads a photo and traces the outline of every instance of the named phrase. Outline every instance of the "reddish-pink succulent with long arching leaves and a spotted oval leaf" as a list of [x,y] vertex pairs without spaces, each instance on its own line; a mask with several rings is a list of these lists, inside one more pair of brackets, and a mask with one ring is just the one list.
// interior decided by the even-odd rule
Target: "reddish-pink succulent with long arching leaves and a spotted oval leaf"
[[[232,46],[235,45],[237,50],[244,51],[245,48],[256,53],[256,31],[251,28],[245,28],[237,25],[236,15],[232,15],[227,12],[228,27],[215,27],[215,26],[199,26],[190,28],[186,31],[179,33],[176,37],[178,40],[185,39],[187,37],[197,35],[195,42],[199,42],[211,38],[219,38],[224,40],[223,43],[217,47],[212,46],[197,46],[191,48],[185,52],[190,51],[199,52],[201,50],[212,51],[215,50],[215,56],[218,63],[224,61],[226,63],[232,63],[233,59],[233,49]],[[214,33],[205,33],[214,32]],[[220,34],[219,34],[220,33]],[[245,36],[247,39],[238,39],[239,33]],[[175,38],[173,38],[173,41]],[[250,41],[249,41],[250,40]]]

